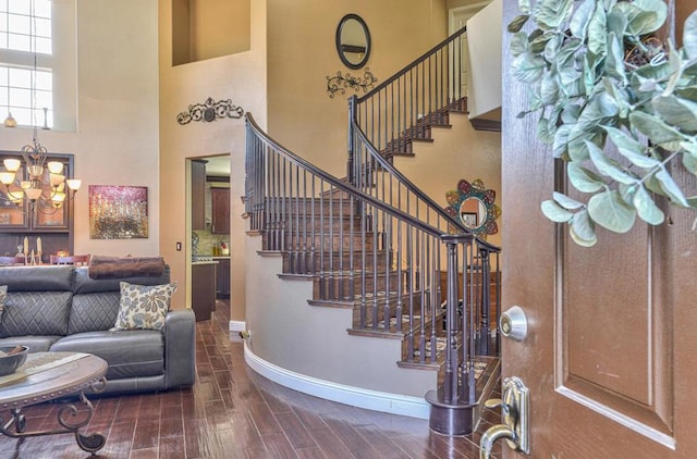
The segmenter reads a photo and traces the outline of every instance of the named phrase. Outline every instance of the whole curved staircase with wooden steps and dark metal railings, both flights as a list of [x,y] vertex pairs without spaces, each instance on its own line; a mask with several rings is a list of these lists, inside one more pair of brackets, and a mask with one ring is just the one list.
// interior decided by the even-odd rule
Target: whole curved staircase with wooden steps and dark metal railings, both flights
[[283,148],[247,115],[245,209],[260,255],[281,257],[282,281],[311,283],[308,305],[348,311],[348,336],[398,343],[398,369],[433,374],[430,426],[449,435],[474,430],[498,377],[490,323],[500,249],[474,237],[391,159],[464,111],[451,76],[460,72],[447,61],[460,55],[453,47],[462,33],[352,98],[344,179]]

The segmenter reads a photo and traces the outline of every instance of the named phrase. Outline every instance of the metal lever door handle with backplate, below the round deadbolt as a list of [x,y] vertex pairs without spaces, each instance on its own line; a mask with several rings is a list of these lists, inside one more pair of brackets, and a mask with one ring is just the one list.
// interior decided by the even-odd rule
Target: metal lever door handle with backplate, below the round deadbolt
[[526,455],[530,452],[528,408],[528,389],[517,376],[503,380],[501,398],[485,401],[487,408],[501,407],[503,423],[497,424],[481,435],[479,442],[479,459],[489,459],[493,444],[505,438],[511,449]]

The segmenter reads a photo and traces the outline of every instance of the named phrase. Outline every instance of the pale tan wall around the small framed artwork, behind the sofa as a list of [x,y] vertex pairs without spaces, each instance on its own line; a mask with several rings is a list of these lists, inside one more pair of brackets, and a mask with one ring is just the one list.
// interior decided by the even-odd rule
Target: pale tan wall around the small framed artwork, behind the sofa
[[[77,132],[39,131],[51,152],[73,153],[83,179],[75,198],[75,252],[159,252],[157,1],[78,1]],[[0,127],[0,149],[19,150],[32,131]],[[88,186],[148,187],[149,237],[89,238]]]

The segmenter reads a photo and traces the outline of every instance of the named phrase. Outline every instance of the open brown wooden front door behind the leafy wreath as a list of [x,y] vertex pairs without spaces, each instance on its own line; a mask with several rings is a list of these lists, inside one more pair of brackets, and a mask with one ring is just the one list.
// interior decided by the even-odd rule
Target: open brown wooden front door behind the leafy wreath
[[[680,3],[682,23],[697,0]],[[517,1],[503,12],[505,25]],[[523,308],[528,333],[503,338],[502,376],[530,394],[530,454],[503,457],[697,457],[697,213],[673,208],[670,224],[628,237],[600,231],[592,248],[545,219],[561,174],[537,116],[516,119],[527,95],[503,34],[501,305]]]

